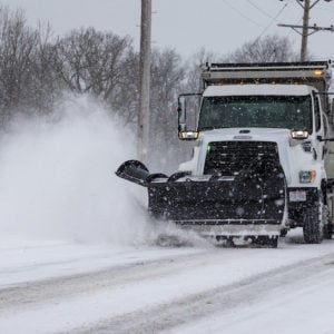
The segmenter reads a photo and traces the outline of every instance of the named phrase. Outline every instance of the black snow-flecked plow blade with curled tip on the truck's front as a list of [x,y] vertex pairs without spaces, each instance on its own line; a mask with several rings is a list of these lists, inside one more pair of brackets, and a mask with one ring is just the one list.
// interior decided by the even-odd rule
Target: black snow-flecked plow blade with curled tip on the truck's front
[[[253,226],[256,235],[278,235],[285,213],[285,178],[281,166],[269,170],[198,177],[176,173],[167,177],[151,175],[141,163],[130,160],[116,174],[147,187],[148,210],[156,218],[198,230],[210,230],[215,226],[216,234],[222,235],[237,234],[239,229],[233,228],[237,226],[246,229]],[[264,226],[272,226],[266,229],[274,233],[262,232]]]

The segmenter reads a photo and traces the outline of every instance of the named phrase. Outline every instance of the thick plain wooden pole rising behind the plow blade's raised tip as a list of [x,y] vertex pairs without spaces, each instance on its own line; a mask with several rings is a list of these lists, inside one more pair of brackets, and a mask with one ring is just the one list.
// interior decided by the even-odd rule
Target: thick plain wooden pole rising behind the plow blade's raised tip
[[148,144],[149,144],[150,39],[151,39],[151,0],[141,0],[138,158],[144,164],[148,164]]

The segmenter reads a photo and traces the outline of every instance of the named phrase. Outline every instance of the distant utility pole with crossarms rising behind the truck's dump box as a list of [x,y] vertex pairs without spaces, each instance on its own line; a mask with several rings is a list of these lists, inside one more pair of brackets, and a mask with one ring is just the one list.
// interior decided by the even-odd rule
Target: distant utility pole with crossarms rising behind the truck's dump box
[[[281,0],[283,1],[283,0]],[[297,24],[277,24],[278,27],[292,28],[297,33],[302,36],[302,46],[301,46],[301,61],[305,61],[307,58],[307,38],[310,35],[313,35],[321,30],[334,31],[333,26],[331,27],[317,27],[316,24],[310,27],[310,11],[311,9],[321,0],[315,0],[311,3],[311,0],[296,0],[296,2],[304,9],[303,14],[303,26]],[[332,0],[324,0],[326,2],[331,2]],[[302,4],[304,2],[304,4]],[[297,29],[302,29],[302,32]],[[308,32],[308,30],[313,30]]]

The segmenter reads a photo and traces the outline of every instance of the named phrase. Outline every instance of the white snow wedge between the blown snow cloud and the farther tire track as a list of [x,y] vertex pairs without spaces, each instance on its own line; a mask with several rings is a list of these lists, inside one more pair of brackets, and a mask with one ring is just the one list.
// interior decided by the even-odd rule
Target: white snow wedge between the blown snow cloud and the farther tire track
[[[189,249],[186,254],[197,254]],[[169,258],[185,254],[184,249],[151,249],[149,247],[110,247],[107,244],[73,244],[61,242],[37,242],[30,246],[0,248],[0,287],[14,287],[63,276],[94,273],[110,266],[136,265],[141,262]]]

